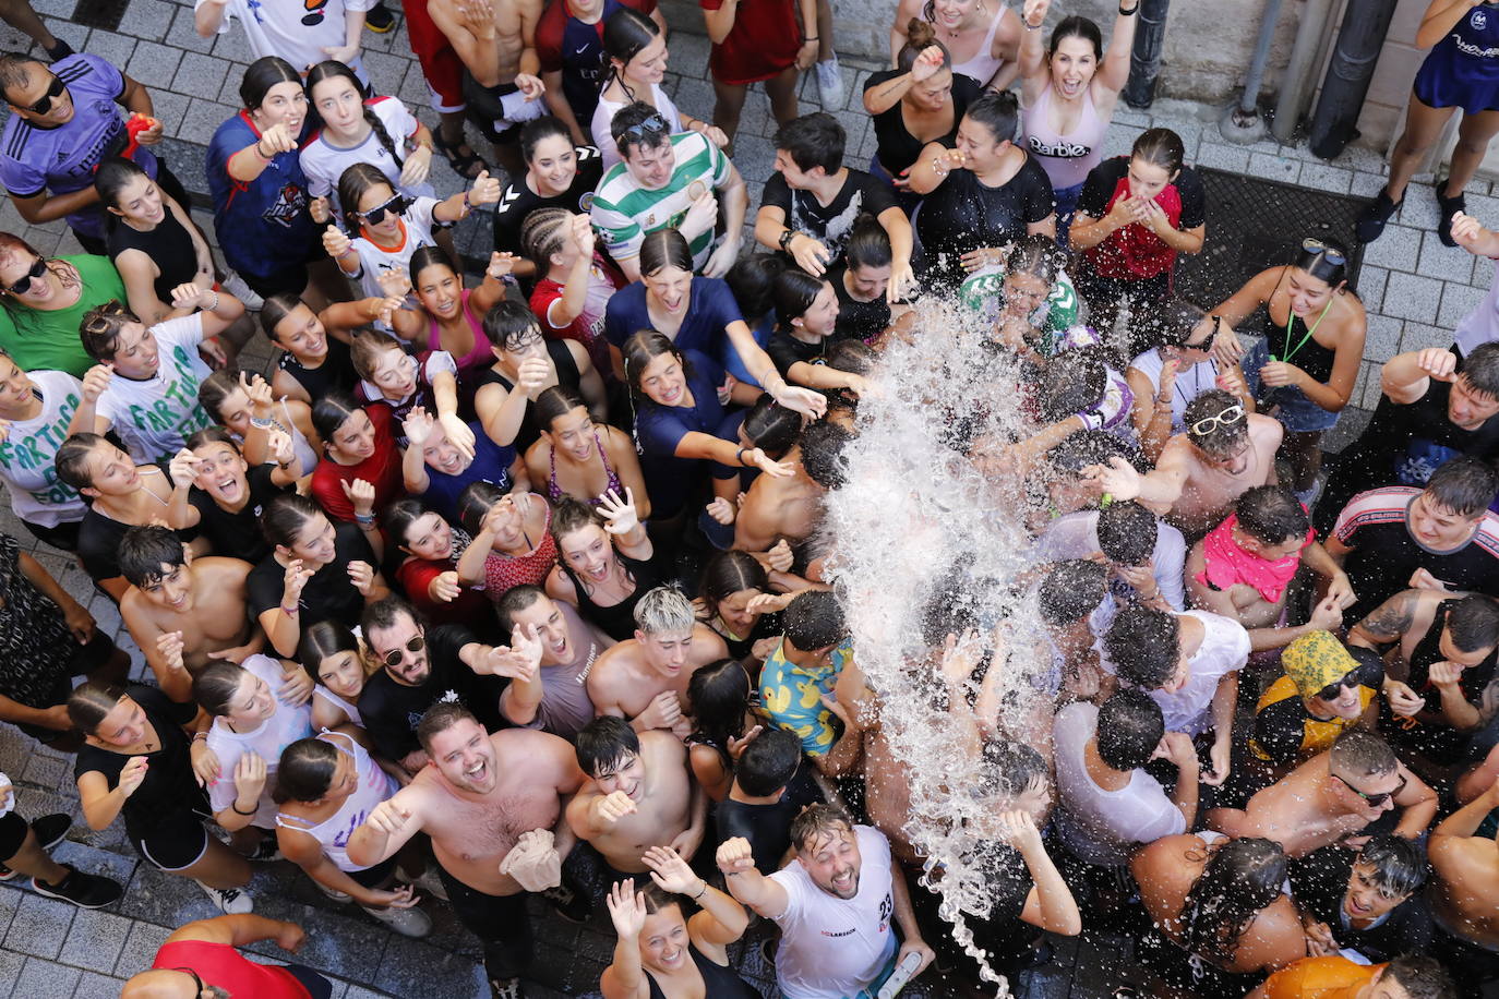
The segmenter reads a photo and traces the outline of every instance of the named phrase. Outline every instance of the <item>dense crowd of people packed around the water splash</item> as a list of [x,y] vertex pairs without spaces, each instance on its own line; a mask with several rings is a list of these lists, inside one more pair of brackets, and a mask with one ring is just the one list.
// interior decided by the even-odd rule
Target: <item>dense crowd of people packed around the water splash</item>
[[[256,55],[205,163],[222,264],[144,85],[40,22],[46,61],[0,55],[0,180],[85,250],[0,232],[0,479],[148,666],[129,681],[0,535],[0,720],[73,753],[88,827],[121,819],[225,914],[127,996],[327,996],[234,951],[303,942],[252,914],[252,864],[279,858],[405,936],[444,900],[495,996],[525,995],[537,900],[613,924],[607,999],[758,995],[729,950],[755,917],[791,999],[977,995],[821,529],[860,400],[898,391],[881,352],[944,335],[931,298],[1021,400],[1010,437],[952,413],[950,443],[1019,490],[1031,569],[992,610],[1037,608],[1021,655],[1054,666],[1006,704],[1006,656],[944,593],[923,611],[910,669],[988,809],[989,968],[1100,929],[1135,938],[1136,995],[1499,981],[1499,285],[1451,349],[1385,362],[1325,457],[1367,333],[1349,247],[1177,294],[1213,213],[1181,138],[1102,154],[1135,0],[1106,43],[1049,0],[902,0],[868,169],[797,106],[803,70],[839,99],[826,0],[702,0],[711,121],[661,88],[654,0],[402,6],[435,129],[363,70],[384,7],[198,0],[199,31],[235,19]],[[1499,108],[1483,10],[1432,1],[1361,240],[1463,106],[1441,235],[1499,259],[1453,193]],[[778,130],[751,217],[755,82]],[[438,153],[465,178],[445,199]],[[493,249],[468,267],[475,210]],[[256,330],[270,371],[237,364]],[[52,860],[67,827],[0,812],[0,878],[112,905]]]

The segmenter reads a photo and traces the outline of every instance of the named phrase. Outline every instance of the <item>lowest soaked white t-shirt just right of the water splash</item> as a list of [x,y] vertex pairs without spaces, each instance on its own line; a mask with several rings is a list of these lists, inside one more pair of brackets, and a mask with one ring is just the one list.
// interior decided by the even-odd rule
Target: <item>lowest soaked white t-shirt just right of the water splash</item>
[[1057,711],[1052,744],[1057,750],[1057,831],[1078,860],[1117,867],[1129,860],[1135,843],[1153,843],[1162,836],[1187,830],[1181,809],[1166,797],[1160,782],[1144,770],[1130,774],[1118,791],[1105,791],[1088,776],[1084,749],[1099,728],[1099,708],[1078,701]]

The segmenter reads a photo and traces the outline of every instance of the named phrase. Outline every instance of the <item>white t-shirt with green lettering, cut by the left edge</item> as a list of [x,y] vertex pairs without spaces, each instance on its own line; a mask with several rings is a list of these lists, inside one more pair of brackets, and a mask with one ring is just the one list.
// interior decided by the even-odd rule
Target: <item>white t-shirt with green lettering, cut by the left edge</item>
[[10,493],[10,509],[42,527],[82,520],[82,499],[57,478],[57,448],[67,439],[67,424],[82,401],[82,386],[67,371],[31,371],[42,395],[36,419],[16,419],[0,442],[0,479]]

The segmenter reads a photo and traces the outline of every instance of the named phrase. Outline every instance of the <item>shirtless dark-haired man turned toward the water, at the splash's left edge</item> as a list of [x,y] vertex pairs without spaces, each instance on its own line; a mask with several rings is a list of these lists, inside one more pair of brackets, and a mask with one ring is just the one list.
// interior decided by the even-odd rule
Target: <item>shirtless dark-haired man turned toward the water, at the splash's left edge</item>
[[808,424],[782,458],[788,478],[755,478],[735,521],[735,548],[767,551],[778,539],[806,541],[823,512],[823,496],[842,485],[842,446],[853,434],[826,421]]

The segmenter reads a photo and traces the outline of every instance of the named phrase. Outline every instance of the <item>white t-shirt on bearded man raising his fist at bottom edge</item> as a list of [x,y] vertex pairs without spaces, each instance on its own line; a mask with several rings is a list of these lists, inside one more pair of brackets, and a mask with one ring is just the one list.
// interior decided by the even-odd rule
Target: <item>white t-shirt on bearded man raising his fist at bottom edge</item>
[[818,888],[797,861],[767,875],[785,888],[785,912],[775,920],[781,927],[775,978],[788,999],[856,995],[895,954],[890,842],[872,825],[856,825],[854,836],[862,864],[853,899]]

